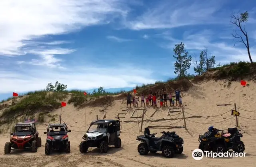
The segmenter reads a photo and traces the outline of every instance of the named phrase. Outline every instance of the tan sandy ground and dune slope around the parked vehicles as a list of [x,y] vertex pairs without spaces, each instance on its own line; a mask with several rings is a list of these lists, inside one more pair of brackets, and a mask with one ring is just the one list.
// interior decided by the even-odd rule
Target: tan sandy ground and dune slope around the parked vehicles
[[[108,153],[100,154],[98,149],[91,148],[89,152],[82,154],[79,152],[79,143],[82,141],[82,136],[86,131],[84,127],[92,120],[96,119],[98,115],[99,119],[102,119],[106,113],[106,119],[114,119],[118,113],[125,113],[122,109],[126,109],[125,99],[124,101],[115,101],[111,107],[108,107],[104,111],[104,107],[94,107],[86,109],[76,109],[72,105],[67,105],[62,108],[62,120],[65,121],[69,128],[72,130],[69,133],[69,139],[71,142],[71,153],[53,153],[46,156],[44,154],[44,143],[46,141],[46,135],[43,132],[46,129],[46,125],[38,125],[40,137],[42,137],[42,147],[38,149],[37,153],[30,153],[29,151],[16,150],[9,155],[4,155],[4,143],[9,141],[8,134],[0,136],[0,162],[4,167],[58,167],[58,166],[70,166],[70,167],[96,167],[96,166],[120,166],[120,167],[132,167],[136,166],[166,166],[166,167],[185,167],[185,166],[200,166],[207,165],[210,167],[219,167],[224,165],[229,166],[255,166],[256,163],[256,110],[254,108],[255,101],[254,95],[256,94],[256,84],[250,83],[246,87],[241,87],[240,83],[232,83],[227,88],[224,87],[224,82],[207,82],[199,85],[195,85],[194,88],[184,93],[183,103],[187,129],[184,128],[172,128],[168,129],[168,126],[184,126],[182,114],[179,112],[170,113],[167,116],[169,107],[158,109],[156,113],[155,109],[148,107],[146,115],[144,117],[143,128],[146,126],[162,126],[151,128],[152,133],[158,133],[156,136],[160,136],[161,131],[176,131],[178,135],[184,139],[184,152],[181,155],[177,155],[172,159],[164,158],[159,153],[149,153],[146,156],[138,154],[137,146],[140,143],[136,141],[137,135],[141,132],[138,130],[138,122],[141,118],[130,118],[133,112],[133,108],[128,111],[126,115],[120,115],[122,121],[121,139],[122,147],[120,149],[111,148]],[[239,96],[240,95],[240,96]],[[214,125],[218,129],[227,129],[228,127],[235,126],[235,118],[231,118],[231,109],[236,106],[245,109],[248,112],[239,110],[240,116],[238,121],[240,129],[244,133],[242,141],[246,146],[246,157],[232,157],[232,158],[208,158],[204,157],[200,161],[196,161],[192,158],[192,151],[198,148],[198,134],[202,134],[207,131],[210,125]],[[231,104],[226,106],[217,106],[216,104]],[[139,107],[142,108],[142,107]],[[172,109],[180,110],[180,109]],[[172,111],[171,110],[171,111]],[[228,112],[229,111],[229,112]],[[86,115],[85,115],[86,112]],[[54,113],[60,113],[60,109],[54,111]],[[138,115],[141,115],[142,111],[138,111]],[[134,113],[136,116],[137,113]],[[195,115],[197,117],[195,117]],[[178,116],[178,117],[177,117]],[[206,117],[210,116],[210,117]],[[247,117],[250,119],[245,119]],[[86,122],[85,122],[86,118]],[[165,119],[157,121],[157,119]],[[173,119],[173,120],[170,120]],[[124,121],[132,121],[125,123]],[[221,122],[220,122],[221,121]],[[178,122],[178,123],[176,123]],[[219,123],[218,123],[219,122]],[[139,124],[140,126],[140,124]],[[87,127],[88,128],[88,127]],[[142,133],[141,133],[142,134]],[[254,165],[253,165],[254,164]]]

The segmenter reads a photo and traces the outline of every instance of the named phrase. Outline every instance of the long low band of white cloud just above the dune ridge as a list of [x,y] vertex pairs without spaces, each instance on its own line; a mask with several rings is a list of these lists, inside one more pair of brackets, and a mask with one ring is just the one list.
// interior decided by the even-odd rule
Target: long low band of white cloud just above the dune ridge
[[[131,71],[132,69],[132,71]],[[121,88],[135,87],[136,84],[154,83],[152,72],[126,64],[112,68],[73,67],[66,69],[22,69],[18,72],[0,70],[0,93],[23,92],[45,89],[47,83],[59,81],[67,84],[68,89],[93,89],[97,87]]]

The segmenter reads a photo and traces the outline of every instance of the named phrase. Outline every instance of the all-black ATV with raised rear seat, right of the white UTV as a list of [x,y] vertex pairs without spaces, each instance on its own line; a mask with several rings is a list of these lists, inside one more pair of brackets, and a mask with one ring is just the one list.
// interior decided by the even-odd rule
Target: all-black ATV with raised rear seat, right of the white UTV
[[138,145],[140,155],[147,155],[148,151],[156,153],[162,151],[162,155],[172,158],[174,154],[181,154],[183,151],[183,139],[175,134],[175,132],[161,132],[162,137],[155,137],[156,133],[150,134],[148,127],[144,130],[144,135],[140,135],[136,140],[141,141]]

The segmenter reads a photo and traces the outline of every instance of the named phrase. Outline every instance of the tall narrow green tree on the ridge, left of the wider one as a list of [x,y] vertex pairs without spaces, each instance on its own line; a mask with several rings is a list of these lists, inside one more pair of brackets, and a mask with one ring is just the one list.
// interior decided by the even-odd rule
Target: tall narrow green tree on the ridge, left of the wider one
[[175,54],[173,57],[176,59],[174,63],[174,74],[178,74],[178,77],[186,76],[187,70],[191,66],[192,57],[188,55],[185,45],[182,42],[175,45],[173,52]]

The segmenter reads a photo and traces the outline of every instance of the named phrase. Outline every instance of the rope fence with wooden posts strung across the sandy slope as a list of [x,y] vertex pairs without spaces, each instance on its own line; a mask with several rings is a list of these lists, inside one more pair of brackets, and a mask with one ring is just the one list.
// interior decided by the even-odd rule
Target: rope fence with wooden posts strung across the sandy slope
[[[250,110],[246,110],[246,109],[236,108],[236,104],[234,104],[234,108],[232,108],[228,111],[225,111],[224,113],[221,113],[221,114],[218,114],[218,115],[209,115],[209,116],[195,115],[195,114],[189,113],[187,111],[184,111],[184,109],[186,109],[186,108],[182,107],[181,109],[182,109],[182,111],[180,111],[180,113],[172,115],[172,116],[176,116],[176,117],[170,118],[170,119],[165,120],[165,121],[152,119],[150,116],[148,116],[146,114],[146,111],[143,111],[141,120],[139,120],[138,117],[136,117],[135,119],[132,119],[132,120],[129,120],[129,121],[124,121],[122,123],[122,125],[124,125],[126,123],[135,123],[135,125],[133,125],[132,127],[128,128],[128,129],[124,129],[124,130],[121,129],[121,132],[128,131],[130,129],[134,129],[136,126],[139,127],[140,123],[141,123],[141,126],[139,127],[139,132],[142,131],[143,123],[148,123],[150,125],[154,125],[154,126],[151,126],[151,127],[170,127],[170,125],[176,125],[179,122],[184,121],[183,126],[176,126],[176,128],[181,128],[182,127],[182,128],[187,129],[186,121],[193,122],[193,123],[198,123],[198,124],[214,124],[214,123],[221,123],[221,122],[224,122],[224,121],[227,121],[227,120],[230,120],[230,119],[232,120],[232,119],[236,118],[236,127],[239,127],[238,117],[241,117],[241,118],[244,118],[244,119],[249,119],[249,120],[256,120],[254,118],[248,118],[248,117],[240,116],[240,112],[238,112],[237,109],[239,109],[241,111],[244,111],[244,112],[250,112],[250,113],[256,113],[256,111],[250,111]],[[244,112],[243,112],[243,114],[244,114]],[[219,117],[219,116],[223,116],[223,115],[228,114],[228,113],[231,113],[230,114],[231,117],[224,118],[224,120],[216,121],[216,122],[201,122],[201,121],[191,120],[191,119],[195,119],[195,118]],[[186,117],[186,115],[192,115],[193,117],[191,117],[191,116]],[[144,116],[146,116],[147,119],[144,120]],[[98,115],[97,115],[97,120],[98,120]],[[84,125],[84,126],[71,125],[71,124],[67,123],[66,121],[62,120],[61,116],[60,116],[60,120],[58,120],[58,121],[62,121],[64,123],[66,123],[66,125],[68,125],[72,128],[83,128],[84,127],[85,128],[84,131],[78,131],[78,130],[70,129],[71,131],[75,131],[75,132],[79,132],[79,133],[85,133],[86,132],[86,127],[88,127],[90,125],[90,124]],[[56,123],[58,121],[54,121],[52,123]],[[157,123],[152,123],[152,122],[157,122]],[[51,124],[51,123],[48,123],[48,124]],[[173,126],[173,127],[175,128],[175,126]],[[38,130],[45,130],[45,129],[38,129]]]

